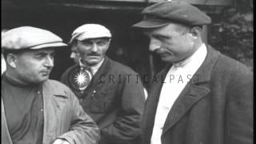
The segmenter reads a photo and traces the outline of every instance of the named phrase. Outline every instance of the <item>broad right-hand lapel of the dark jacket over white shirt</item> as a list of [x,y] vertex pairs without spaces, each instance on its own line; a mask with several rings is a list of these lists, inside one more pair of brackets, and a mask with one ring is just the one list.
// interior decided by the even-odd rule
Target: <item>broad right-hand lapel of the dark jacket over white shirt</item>
[[210,74],[215,62],[218,60],[218,56],[219,53],[217,51],[210,48],[210,46],[207,46],[205,61],[174,102],[174,105],[166,118],[162,135],[165,134],[167,130],[170,130],[170,128],[174,126],[174,124],[178,122],[196,102],[210,93]]

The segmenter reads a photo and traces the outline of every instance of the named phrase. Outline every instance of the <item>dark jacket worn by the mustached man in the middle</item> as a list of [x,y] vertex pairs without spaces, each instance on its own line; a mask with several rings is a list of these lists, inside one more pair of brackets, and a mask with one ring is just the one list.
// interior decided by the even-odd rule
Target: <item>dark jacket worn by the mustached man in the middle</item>
[[[61,80],[67,86],[70,86],[67,78],[70,70],[72,67]],[[106,57],[90,86],[83,94],[76,94],[101,129],[101,144],[138,143],[145,96],[134,70]]]

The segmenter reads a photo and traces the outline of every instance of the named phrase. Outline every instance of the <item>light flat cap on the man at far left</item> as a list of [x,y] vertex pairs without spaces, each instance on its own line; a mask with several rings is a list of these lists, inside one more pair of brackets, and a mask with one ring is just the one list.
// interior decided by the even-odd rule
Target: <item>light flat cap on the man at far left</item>
[[60,46],[67,46],[62,38],[48,30],[32,26],[21,26],[2,34],[2,48],[6,50],[37,50]]

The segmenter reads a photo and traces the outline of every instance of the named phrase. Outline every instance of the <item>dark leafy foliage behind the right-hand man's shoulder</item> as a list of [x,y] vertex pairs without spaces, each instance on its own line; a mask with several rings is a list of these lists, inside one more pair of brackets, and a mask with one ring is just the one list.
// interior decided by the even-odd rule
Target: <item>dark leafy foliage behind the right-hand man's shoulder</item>
[[253,69],[254,14],[253,1],[234,0],[232,6],[222,10],[219,22],[209,34],[212,46],[223,54],[245,63]]

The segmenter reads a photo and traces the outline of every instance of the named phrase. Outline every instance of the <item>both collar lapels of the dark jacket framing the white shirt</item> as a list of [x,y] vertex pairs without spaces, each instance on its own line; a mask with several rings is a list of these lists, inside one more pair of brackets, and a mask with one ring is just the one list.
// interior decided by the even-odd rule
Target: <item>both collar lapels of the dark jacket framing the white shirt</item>
[[[176,122],[182,118],[184,114],[196,102],[201,98],[205,97],[206,94],[210,93],[209,82],[211,77],[211,71],[218,60],[220,53],[210,46],[207,47],[206,59],[199,67],[197,72],[191,78],[190,83],[186,85],[182,93],[178,96],[178,99],[174,102],[167,118],[162,131],[162,135],[166,134],[166,131],[170,130]],[[162,70],[158,77],[166,77],[168,70],[170,70],[171,65],[167,66],[166,69]],[[149,98],[146,101],[145,116],[142,125],[144,125],[146,132],[146,141],[150,141],[150,135],[152,134],[154,126],[154,116],[158,106],[158,98],[162,89],[162,82],[154,84],[152,90],[150,90]]]

